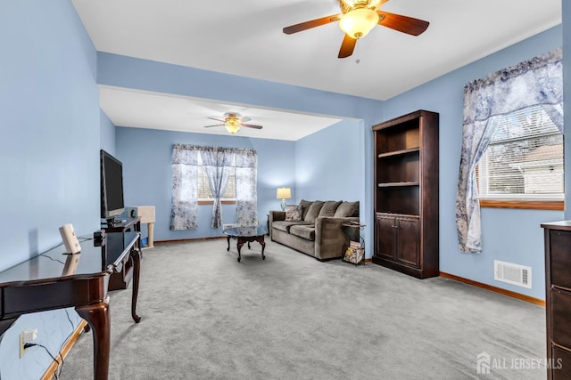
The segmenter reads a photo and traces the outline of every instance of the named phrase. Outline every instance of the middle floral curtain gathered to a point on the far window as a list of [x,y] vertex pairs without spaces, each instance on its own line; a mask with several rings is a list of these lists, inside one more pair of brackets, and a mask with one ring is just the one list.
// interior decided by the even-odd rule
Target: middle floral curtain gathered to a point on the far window
[[214,204],[212,205],[212,228],[222,225],[222,202],[232,171],[234,152],[226,148],[204,147],[201,150],[203,168],[208,177]]

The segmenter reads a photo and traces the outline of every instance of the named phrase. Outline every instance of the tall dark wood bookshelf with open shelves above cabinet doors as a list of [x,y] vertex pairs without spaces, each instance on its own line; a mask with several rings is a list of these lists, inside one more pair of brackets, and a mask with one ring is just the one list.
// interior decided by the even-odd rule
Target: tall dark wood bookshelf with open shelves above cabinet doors
[[373,126],[373,263],[419,279],[439,275],[438,120],[418,110]]

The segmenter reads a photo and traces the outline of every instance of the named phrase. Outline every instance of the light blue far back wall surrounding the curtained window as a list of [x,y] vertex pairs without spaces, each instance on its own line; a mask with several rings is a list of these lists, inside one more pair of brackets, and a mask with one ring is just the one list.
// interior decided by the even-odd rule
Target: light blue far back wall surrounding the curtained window
[[[197,230],[170,230],[171,157],[174,143],[247,148],[258,153],[258,219],[265,225],[269,209],[276,209],[276,189],[293,185],[294,142],[251,139],[237,135],[181,133],[117,127],[117,154],[123,163],[125,204],[155,206],[154,239],[177,240],[222,236],[211,228],[212,206],[199,206]],[[222,222],[236,222],[234,205],[222,206]]]

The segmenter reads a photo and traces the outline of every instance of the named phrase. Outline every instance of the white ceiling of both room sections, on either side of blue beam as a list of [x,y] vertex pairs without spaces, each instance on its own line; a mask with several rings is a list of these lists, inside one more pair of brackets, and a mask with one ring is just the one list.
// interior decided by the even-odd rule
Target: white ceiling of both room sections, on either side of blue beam
[[[429,21],[426,32],[410,36],[377,26],[351,57],[338,59],[343,31],[336,22],[294,35],[282,32],[339,13],[337,0],[72,2],[100,52],[377,100],[561,22],[561,0],[391,0],[382,9]],[[264,128],[237,134],[285,140],[339,120],[115,87],[102,87],[101,107],[115,125],[200,133],[227,133],[223,127],[203,128],[213,121],[207,117],[239,112]]]

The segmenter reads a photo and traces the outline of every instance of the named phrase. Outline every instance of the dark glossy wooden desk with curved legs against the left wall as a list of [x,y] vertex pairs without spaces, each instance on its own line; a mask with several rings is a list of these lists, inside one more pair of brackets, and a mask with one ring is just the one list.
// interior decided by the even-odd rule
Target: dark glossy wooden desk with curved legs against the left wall
[[[103,247],[95,247],[94,240],[89,239],[81,242],[80,254],[64,255],[65,247],[59,246],[0,272],[0,336],[22,314],[75,307],[93,329],[94,378],[107,379],[111,327],[109,279],[113,272],[132,263],[131,316],[139,322],[141,318],[136,312],[141,266],[139,238],[138,232],[108,233]],[[75,272],[64,274],[68,257],[78,255]]]

